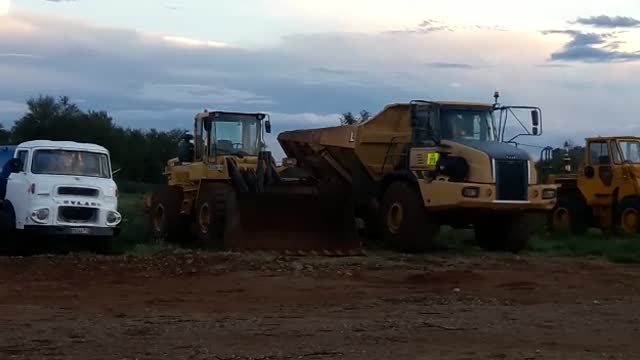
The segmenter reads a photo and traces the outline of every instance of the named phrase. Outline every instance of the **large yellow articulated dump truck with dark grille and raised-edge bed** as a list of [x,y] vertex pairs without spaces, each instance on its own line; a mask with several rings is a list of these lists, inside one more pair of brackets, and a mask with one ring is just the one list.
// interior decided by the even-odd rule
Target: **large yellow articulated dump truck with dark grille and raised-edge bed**
[[518,119],[520,135],[541,133],[539,108],[498,106],[497,95],[496,104],[392,104],[355,125],[283,132],[286,162],[296,164],[283,174],[304,170],[350,192],[367,237],[400,251],[430,249],[450,225],[474,229],[484,249],[518,252],[528,215],[554,207],[557,185],[538,184],[534,159],[505,141],[514,109],[531,113],[530,127]]

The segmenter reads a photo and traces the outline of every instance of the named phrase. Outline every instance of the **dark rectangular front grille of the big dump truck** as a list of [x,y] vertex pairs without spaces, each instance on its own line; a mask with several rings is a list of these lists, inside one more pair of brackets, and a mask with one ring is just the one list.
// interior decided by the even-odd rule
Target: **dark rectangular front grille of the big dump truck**
[[496,160],[496,199],[524,201],[528,199],[528,164],[523,160]]

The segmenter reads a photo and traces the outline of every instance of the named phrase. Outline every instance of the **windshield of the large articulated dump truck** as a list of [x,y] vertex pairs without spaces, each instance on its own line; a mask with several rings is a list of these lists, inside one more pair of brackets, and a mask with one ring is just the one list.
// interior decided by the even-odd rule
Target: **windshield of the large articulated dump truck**
[[441,109],[442,137],[456,140],[496,141],[493,112],[471,109]]

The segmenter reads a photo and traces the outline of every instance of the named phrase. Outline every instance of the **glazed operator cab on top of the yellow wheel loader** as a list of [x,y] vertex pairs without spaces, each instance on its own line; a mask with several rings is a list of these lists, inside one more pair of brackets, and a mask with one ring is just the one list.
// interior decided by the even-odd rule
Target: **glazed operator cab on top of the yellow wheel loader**
[[265,132],[271,132],[267,114],[205,110],[194,121],[195,159],[258,156],[265,147]]

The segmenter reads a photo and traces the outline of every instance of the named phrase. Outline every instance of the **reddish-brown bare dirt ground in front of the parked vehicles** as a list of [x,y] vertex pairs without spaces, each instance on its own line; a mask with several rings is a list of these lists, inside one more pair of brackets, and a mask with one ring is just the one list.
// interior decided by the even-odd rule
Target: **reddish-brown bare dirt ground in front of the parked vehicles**
[[638,359],[640,269],[566,259],[0,259],[0,359]]

